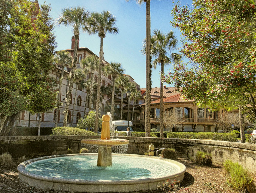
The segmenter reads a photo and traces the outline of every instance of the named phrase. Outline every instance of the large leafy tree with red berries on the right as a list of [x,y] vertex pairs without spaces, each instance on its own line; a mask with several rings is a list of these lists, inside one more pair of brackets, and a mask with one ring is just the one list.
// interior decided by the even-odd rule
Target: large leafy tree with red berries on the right
[[193,8],[175,3],[172,26],[180,29],[181,62],[164,81],[173,82],[186,98],[212,109],[239,108],[242,142],[243,114],[255,121],[255,1],[193,0]]

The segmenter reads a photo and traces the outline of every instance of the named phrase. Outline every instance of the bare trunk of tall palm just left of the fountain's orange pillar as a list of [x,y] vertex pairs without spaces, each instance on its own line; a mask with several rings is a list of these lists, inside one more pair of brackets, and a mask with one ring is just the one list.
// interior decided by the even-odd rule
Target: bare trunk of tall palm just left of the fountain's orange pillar
[[101,66],[103,58],[103,37],[100,37],[100,57],[99,57],[99,69],[98,69],[98,90],[97,90],[97,101],[96,101],[96,117],[94,132],[98,133],[98,122],[99,122],[99,106],[100,106],[100,82],[101,82]]

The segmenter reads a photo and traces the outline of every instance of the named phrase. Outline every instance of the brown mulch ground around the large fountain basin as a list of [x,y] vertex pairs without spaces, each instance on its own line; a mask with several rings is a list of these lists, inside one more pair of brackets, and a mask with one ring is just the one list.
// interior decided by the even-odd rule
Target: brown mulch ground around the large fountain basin
[[[180,189],[174,189],[171,193],[238,193],[232,190],[226,183],[225,172],[222,165],[214,164],[212,167],[198,166],[189,160],[178,158],[179,162],[187,167],[184,180],[180,183]],[[19,180],[17,166],[22,161],[14,160],[14,165],[0,165],[0,193],[30,193],[31,187],[27,187]],[[254,183],[256,175],[252,174]],[[206,185],[208,184],[208,186]],[[212,190],[210,189],[212,187]],[[215,190],[214,190],[215,187]],[[34,188],[32,193],[53,193],[54,191]],[[158,189],[153,193],[163,193]],[[57,191],[55,191],[57,193]]]

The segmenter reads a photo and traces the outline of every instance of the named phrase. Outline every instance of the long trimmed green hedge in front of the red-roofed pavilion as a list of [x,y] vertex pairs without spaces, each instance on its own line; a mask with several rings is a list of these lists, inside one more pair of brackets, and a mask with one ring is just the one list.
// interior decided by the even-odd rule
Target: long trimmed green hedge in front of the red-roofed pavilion
[[212,132],[171,132],[167,133],[167,138],[178,139],[212,139],[217,141],[236,141],[236,135],[234,133],[212,133]]

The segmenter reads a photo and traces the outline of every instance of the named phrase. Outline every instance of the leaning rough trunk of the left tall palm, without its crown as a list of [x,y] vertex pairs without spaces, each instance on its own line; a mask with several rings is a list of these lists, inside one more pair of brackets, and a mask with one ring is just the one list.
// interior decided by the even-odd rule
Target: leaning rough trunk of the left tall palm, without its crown
[[74,36],[75,36],[74,54],[73,54],[72,68],[70,71],[70,80],[69,80],[69,87],[68,87],[67,98],[66,98],[66,105],[64,110],[63,127],[67,127],[68,108],[70,103],[70,95],[73,88],[74,71],[76,68],[76,61],[77,61],[76,53],[77,53],[77,40],[79,39],[79,32],[74,32]]

